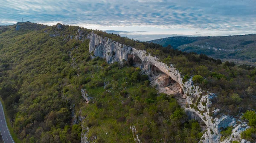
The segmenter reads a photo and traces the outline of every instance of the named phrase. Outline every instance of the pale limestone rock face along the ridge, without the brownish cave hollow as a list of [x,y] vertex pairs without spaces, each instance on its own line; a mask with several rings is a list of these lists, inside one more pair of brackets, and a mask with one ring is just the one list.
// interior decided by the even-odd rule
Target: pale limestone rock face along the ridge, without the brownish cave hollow
[[[79,33],[80,32],[81,31],[79,31]],[[221,118],[213,118],[209,110],[209,107],[211,106],[210,99],[214,98],[216,95],[214,93],[202,95],[203,93],[201,89],[198,86],[193,85],[192,79],[183,83],[183,76],[172,65],[160,62],[157,57],[151,56],[146,53],[145,50],[137,50],[136,48],[112,41],[106,37],[103,38],[98,36],[93,32],[87,35],[87,39],[90,39],[89,52],[92,52],[95,56],[106,59],[106,62],[109,64],[113,62],[122,62],[123,60],[128,60],[128,58],[131,57],[134,61],[138,62],[136,65],[140,67],[144,73],[150,75],[152,69],[156,67],[157,70],[168,75],[172,80],[175,80],[183,90],[183,98],[185,98],[186,104],[188,104],[186,105],[187,108],[185,108],[186,113],[190,117],[198,119],[198,121],[203,121],[207,126],[207,131],[204,133],[200,142],[220,143],[221,129],[224,129],[227,126],[234,126],[236,124],[236,119],[227,115],[221,116]],[[82,92],[82,94],[83,93],[84,92]],[[185,107],[184,105],[181,106]],[[216,109],[216,114],[217,112],[219,112],[219,110]],[[240,132],[242,130],[243,129],[241,128],[237,128],[234,132]],[[230,136],[230,138],[234,137]],[[239,140],[241,140],[241,137]],[[227,140],[225,143],[228,143],[228,141],[230,140]]]

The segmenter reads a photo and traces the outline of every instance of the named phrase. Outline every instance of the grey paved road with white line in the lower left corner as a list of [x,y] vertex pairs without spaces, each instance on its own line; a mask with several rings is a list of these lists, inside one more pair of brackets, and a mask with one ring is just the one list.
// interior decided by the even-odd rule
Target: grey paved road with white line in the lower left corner
[[0,131],[1,131],[1,135],[3,137],[4,143],[14,143],[12,136],[9,132],[9,129],[7,127],[1,101],[0,101]]

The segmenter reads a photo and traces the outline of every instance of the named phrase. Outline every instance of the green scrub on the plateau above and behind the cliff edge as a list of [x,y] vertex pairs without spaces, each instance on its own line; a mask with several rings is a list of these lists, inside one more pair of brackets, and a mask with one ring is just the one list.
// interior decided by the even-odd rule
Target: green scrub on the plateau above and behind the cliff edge
[[[222,63],[219,59],[213,59],[204,54],[186,53],[169,47],[163,47],[154,43],[134,41],[115,34],[107,34],[95,31],[100,36],[106,36],[137,49],[146,50],[160,61],[173,64],[184,76],[183,81],[195,77],[194,81],[203,90],[216,93],[218,96],[212,99],[212,108],[218,108],[227,115],[238,115],[250,109],[256,109],[256,68],[241,65],[234,62]],[[202,79],[202,78],[203,79]],[[245,89],[246,92],[244,92]],[[234,95],[233,95],[234,94]],[[238,95],[238,96],[237,96]]]

